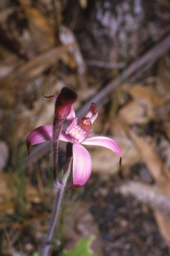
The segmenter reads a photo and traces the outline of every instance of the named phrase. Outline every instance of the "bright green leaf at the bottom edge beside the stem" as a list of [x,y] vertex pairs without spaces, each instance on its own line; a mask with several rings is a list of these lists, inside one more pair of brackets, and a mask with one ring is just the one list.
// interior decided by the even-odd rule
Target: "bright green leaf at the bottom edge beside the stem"
[[94,239],[94,236],[86,237],[82,239],[72,251],[62,251],[60,256],[92,256],[93,251],[90,249],[90,245]]

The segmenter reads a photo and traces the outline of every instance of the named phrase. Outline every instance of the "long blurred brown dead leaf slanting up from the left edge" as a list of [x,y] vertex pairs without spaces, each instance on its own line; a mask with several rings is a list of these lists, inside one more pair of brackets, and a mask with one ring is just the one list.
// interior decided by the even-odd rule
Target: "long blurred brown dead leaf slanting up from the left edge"
[[[41,55],[29,60],[27,63],[22,63],[17,69],[4,77],[0,81],[0,102],[1,107],[11,107],[16,103],[17,93],[20,89],[25,89],[25,84],[29,79],[33,79],[41,75],[51,65],[54,65],[62,53],[66,53],[67,47],[54,47]],[[16,90],[17,87],[17,90]],[[4,96],[4,88],[10,91],[9,101]]]

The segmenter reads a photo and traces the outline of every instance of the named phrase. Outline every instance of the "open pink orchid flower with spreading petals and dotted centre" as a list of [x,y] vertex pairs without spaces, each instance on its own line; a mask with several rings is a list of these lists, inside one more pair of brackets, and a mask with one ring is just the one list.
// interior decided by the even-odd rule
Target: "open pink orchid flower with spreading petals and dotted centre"
[[[72,188],[84,185],[92,171],[92,159],[88,151],[82,145],[95,145],[111,149],[120,155],[121,166],[122,153],[113,139],[108,137],[92,137],[86,139],[92,132],[90,129],[97,116],[98,112],[96,111],[96,104],[92,103],[86,117],[82,117],[78,123],[78,119],[75,117],[74,108],[71,107],[70,114],[66,117],[68,127],[66,128],[66,131],[61,131],[60,133],[60,141],[73,143]],[[28,151],[32,145],[50,140],[52,140],[52,125],[38,127],[29,135],[29,137],[27,137]]]

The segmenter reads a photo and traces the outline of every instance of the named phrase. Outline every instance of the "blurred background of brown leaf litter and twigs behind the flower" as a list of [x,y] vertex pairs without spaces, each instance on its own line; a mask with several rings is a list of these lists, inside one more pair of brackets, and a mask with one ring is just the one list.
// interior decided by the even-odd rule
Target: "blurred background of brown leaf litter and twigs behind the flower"
[[[27,157],[25,141],[52,124],[44,96],[65,86],[78,118],[96,103],[92,136],[114,139],[123,161],[87,147],[92,174],[73,191],[70,177],[50,255],[91,235],[87,255],[170,255],[169,49],[169,0],[0,0],[0,255],[39,255],[52,151],[42,143]],[[64,157],[60,143],[59,169]]]

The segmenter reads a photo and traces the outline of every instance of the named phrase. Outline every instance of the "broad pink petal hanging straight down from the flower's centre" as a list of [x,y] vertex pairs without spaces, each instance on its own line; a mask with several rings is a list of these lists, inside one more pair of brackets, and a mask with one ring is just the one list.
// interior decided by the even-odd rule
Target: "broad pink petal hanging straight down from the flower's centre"
[[88,151],[78,143],[74,143],[72,177],[73,185],[71,189],[81,187],[88,180],[92,171],[92,160]]

